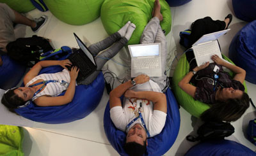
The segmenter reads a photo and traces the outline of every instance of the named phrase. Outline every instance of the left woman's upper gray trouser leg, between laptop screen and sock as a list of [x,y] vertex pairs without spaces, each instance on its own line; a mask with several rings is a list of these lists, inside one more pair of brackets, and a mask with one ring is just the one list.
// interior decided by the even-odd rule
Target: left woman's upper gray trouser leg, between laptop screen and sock
[[111,36],[108,36],[108,38],[103,39],[102,41],[99,41],[97,43],[94,43],[90,45],[88,48],[90,52],[93,53],[93,55],[97,55],[102,50],[105,50],[109,46],[113,45],[113,43],[118,41],[120,38],[122,38],[122,36],[118,32],[115,32],[114,34],[111,34]]

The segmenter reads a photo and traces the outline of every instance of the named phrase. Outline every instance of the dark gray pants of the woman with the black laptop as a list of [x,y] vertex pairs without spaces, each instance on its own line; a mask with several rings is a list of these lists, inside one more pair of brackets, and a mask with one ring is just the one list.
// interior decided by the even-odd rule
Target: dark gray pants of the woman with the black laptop
[[[122,36],[118,33],[115,32],[114,34],[111,34],[108,38],[99,41],[97,43],[94,43],[93,45],[90,45],[88,48],[90,52],[92,52],[93,55],[97,55],[95,57],[95,62],[97,65],[97,71],[92,73],[90,76],[88,76],[86,79],[83,80],[83,82],[77,83],[78,85],[88,85],[97,78],[98,74],[100,73],[102,67],[104,64],[114,57],[116,53],[118,53],[128,42],[126,38],[122,38]],[[111,46],[112,45],[112,46]],[[111,46],[110,48],[108,48]],[[108,48],[107,50],[105,50]],[[102,50],[105,50],[104,52],[100,53]]]

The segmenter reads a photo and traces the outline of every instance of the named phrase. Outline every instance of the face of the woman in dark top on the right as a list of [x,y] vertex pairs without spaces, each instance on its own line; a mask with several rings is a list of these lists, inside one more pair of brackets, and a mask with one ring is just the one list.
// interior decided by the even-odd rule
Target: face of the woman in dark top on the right
[[221,90],[221,95],[223,96],[223,99],[241,99],[243,96],[243,91],[238,89],[230,88],[224,88]]

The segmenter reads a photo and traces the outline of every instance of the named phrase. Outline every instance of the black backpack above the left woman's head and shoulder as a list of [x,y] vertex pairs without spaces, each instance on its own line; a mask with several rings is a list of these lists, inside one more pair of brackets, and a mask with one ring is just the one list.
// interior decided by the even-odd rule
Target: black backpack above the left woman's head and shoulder
[[[38,62],[40,53],[53,50],[49,39],[33,35],[31,38],[18,38],[6,45],[7,54],[17,62],[31,66],[30,61]],[[33,65],[32,65],[33,66]]]

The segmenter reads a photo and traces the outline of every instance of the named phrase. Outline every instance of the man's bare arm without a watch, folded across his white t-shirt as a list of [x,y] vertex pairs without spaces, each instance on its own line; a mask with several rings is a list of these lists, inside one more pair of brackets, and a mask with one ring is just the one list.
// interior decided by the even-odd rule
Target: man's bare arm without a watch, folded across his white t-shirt
[[154,110],[167,112],[166,96],[161,92],[143,91],[134,92],[133,90],[127,90],[124,94],[125,97],[134,97],[138,99],[147,99],[154,103]]

